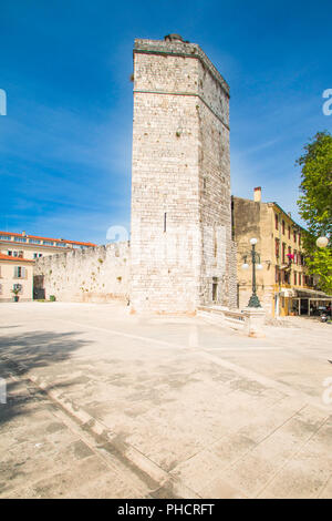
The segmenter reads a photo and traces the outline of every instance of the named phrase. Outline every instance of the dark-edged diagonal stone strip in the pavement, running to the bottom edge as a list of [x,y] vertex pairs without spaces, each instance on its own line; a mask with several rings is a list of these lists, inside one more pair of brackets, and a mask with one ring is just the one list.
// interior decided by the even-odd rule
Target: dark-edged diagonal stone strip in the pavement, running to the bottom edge
[[[19,369],[27,369],[27,366],[17,361],[11,360],[7,356],[1,356],[3,360],[7,360]],[[27,378],[32,381],[37,387],[44,391],[52,401],[58,403],[63,410],[65,410],[70,416],[81,422],[82,428],[87,428],[94,435],[104,438],[106,442],[111,442],[116,437],[106,426],[104,426],[100,420],[96,420],[93,416],[86,412],[84,409],[74,405],[74,402],[64,397],[64,392],[58,391],[56,388],[53,388],[51,391],[48,390],[49,385],[46,381],[41,378],[27,374]],[[153,481],[156,482],[156,488],[165,487],[165,483],[172,482],[174,490],[181,490],[185,494],[189,494],[193,499],[199,499],[200,497],[196,494],[193,490],[186,487],[180,480],[174,478],[163,470],[157,463],[143,454],[138,449],[131,446],[129,443],[123,442],[125,448],[123,456],[132,463],[132,466],[137,468],[141,472],[147,474]],[[153,490],[152,490],[153,492]]]

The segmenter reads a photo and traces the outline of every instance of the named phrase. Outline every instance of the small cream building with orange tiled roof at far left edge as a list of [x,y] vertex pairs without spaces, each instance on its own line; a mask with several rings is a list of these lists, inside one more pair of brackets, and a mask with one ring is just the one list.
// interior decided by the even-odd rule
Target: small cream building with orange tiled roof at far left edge
[[34,260],[0,253],[0,303],[32,299]]

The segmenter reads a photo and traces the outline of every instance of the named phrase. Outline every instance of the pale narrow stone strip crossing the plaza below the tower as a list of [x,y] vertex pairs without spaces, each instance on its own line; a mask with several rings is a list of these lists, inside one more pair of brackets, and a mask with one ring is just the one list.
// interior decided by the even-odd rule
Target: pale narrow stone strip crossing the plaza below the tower
[[152,337],[144,337],[144,336],[141,336],[141,335],[132,335],[129,333],[122,333],[122,331],[118,331],[116,329],[108,329],[106,327],[91,326],[91,325],[77,323],[77,321],[74,321],[74,320],[66,320],[64,318],[56,318],[56,320],[60,320],[60,321],[63,321],[63,323],[66,323],[66,324],[74,324],[75,326],[80,326],[82,328],[107,331],[110,335],[116,335],[116,336],[122,336],[122,337],[126,337],[126,338],[133,338],[133,339],[142,340],[142,341],[149,341],[149,343],[153,341],[153,343],[156,343],[156,344],[158,344],[158,345],[160,345],[165,348],[170,347],[173,349],[177,348],[177,349],[181,349],[181,350],[187,351],[187,353],[196,353],[197,355],[199,355],[201,357],[205,357],[207,359],[210,359],[210,360],[215,361],[217,365],[219,365],[221,367],[231,369],[232,371],[238,372],[239,375],[245,376],[246,378],[249,378],[253,381],[258,381],[258,382],[260,382],[264,386],[272,387],[273,389],[286,392],[289,396],[299,397],[299,398],[303,399],[305,402],[312,405],[313,407],[317,407],[321,410],[326,411],[326,406],[324,406],[322,403],[319,403],[315,399],[313,399],[311,396],[307,395],[305,392],[294,390],[290,386],[288,386],[287,384],[281,384],[279,381],[272,380],[271,378],[259,375],[258,372],[252,371],[251,369],[246,369],[246,368],[243,368],[243,367],[241,367],[237,364],[234,364],[234,362],[227,361],[225,359],[221,359],[219,357],[216,357],[209,350],[207,350],[208,348],[204,348],[204,347],[199,348],[199,347],[193,347],[193,346],[187,346],[187,345],[181,345],[181,344],[176,344],[176,343],[169,343],[169,341],[166,341],[166,340],[157,340],[157,339],[154,339]]

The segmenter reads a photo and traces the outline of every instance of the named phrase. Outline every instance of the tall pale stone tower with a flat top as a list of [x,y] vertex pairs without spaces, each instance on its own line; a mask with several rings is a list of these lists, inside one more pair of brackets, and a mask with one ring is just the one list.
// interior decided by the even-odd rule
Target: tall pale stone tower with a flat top
[[133,311],[232,307],[229,86],[196,43],[135,40]]

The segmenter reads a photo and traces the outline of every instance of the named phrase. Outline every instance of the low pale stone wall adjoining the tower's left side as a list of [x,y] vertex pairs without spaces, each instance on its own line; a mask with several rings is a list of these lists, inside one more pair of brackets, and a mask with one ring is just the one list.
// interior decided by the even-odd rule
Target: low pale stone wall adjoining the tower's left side
[[129,298],[129,244],[116,243],[41,257],[34,266],[34,289],[46,299],[107,303]]

